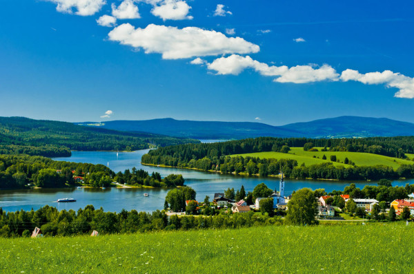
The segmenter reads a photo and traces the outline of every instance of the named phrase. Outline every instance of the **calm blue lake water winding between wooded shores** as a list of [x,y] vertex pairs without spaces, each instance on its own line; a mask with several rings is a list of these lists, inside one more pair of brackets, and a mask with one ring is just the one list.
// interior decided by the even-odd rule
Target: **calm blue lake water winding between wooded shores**
[[[107,165],[115,172],[124,171],[136,167],[145,169],[149,173],[157,171],[162,177],[170,173],[181,173],[186,179],[186,185],[197,191],[197,200],[202,201],[206,195],[211,198],[215,192],[224,192],[228,187],[239,189],[244,185],[246,191],[253,191],[255,186],[264,182],[271,189],[279,189],[277,178],[257,178],[245,176],[220,175],[218,173],[193,171],[188,169],[170,169],[162,167],[148,167],[141,165],[141,156],[148,149],[134,152],[96,152],[73,151],[68,158],[55,158],[54,160],[66,160],[71,162],[91,162],[92,164]],[[405,185],[406,182],[414,183],[414,180],[395,181],[393,185]],[[296,189],[309,187],[311,189],[323,188],[326,191],[334,189],[342,190],[351,182],[321,181],[321,180],[286,180],[285,195]],[[376,185],[376,182],[355,182],[357,187]],[[149,197],[144,197],[148,192]],[[23,189],[12,191],[0,191],[0,207],[6,211],[20,209],[39,209],[48,204],[58,209],[79,209],[93,204],[95,208],[103,207],[105,211],[121,211],[121,209],[136,209],[137,211],[155,211],[164,207],[164,199],[168,189]],[[75,198],[77,202],[57,203],[59,198]]]

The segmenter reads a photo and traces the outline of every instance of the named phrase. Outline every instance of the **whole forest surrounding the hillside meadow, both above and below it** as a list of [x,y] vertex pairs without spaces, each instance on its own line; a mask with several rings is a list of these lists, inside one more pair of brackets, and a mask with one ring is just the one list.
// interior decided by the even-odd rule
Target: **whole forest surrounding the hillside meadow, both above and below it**
[[188,144],[161,147],[142,156],[141,161],[151,165],[189,167],[214,170],[221,173],[248,173],[272,176],[282,168],[290,178],[335,180],[380,180],[382,178],[414,178],[413,165],[401,165],[397,170],[385,166],[335,167],[331,162],[298,167],[296,160],[230,157],[262,151],[282,151],[285,147],[324,147],[329,151],[366,152],[406,158],[413,153],[414,137],[360,138],[360,139],[307,139],[307,138],[255,138],[224,143]]

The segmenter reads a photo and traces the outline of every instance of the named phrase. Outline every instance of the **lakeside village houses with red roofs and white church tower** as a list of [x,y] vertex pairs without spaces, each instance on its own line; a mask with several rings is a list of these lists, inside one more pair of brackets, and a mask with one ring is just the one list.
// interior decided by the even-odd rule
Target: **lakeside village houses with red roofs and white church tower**
[[[168,211],[167,214],[206,215],[206,212],[215,210],[213,212],[216,214],[257,212],[280,215],[283,218],[288,211],[288,202],[292,199],[292,195],[284,196],[284,184],[282,175],[279,182],[280,191],[275,189],[267,197],[257,197],[253,200],[251,196],[246,196],[235,200],[233,197],[228,197],[232,196],[231,194],[214,193],[213,202],[208,202],[208,197],[204,202],[186,200],[186,212]],[[392,202],[380,202],[374,198],[353,198],[349,194],[315,196],[315,202],[317,203],[318,220],[396,220],[398,216],[402,217],[402,215],[404,216],[402,219],[406,220],[414,217],[414,193],[409,194],[406,199],[395,199]],[[206,211],[206,207],[210,207],[210,210]]]

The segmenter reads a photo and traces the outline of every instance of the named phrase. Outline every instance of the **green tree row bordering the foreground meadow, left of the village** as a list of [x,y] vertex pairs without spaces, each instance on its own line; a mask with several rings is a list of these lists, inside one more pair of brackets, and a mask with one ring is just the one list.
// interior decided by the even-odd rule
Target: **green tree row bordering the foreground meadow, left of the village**
[[172,215],[168,220],[163,211],[146,213],[123,209],[119,213],[112,213],[102,208],[95,209],[92,205],[78,211],[58,211],[49,206],[37,211],[3,212],[0,209],[0,237],[29,237],[35,227],[39,227],[46,236],[70,236],[90,234],[93,230],[101,234],[113,234],[177,229],[235,229],[270,224],[282,224],[282,221],[254,213],[220,213],[208,217],[186,215],[180,218]]

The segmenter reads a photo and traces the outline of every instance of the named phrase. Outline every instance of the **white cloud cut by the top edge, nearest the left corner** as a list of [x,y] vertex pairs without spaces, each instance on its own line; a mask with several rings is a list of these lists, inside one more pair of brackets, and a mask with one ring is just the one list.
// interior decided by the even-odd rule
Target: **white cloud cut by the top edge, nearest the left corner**
[[76,9],[75,14],[81,16],[93,15],[102,6],[106,4],[105,0],[46,0],[52,3],[57,3],[56,10],[58,12],[73,13],[73,9]]

